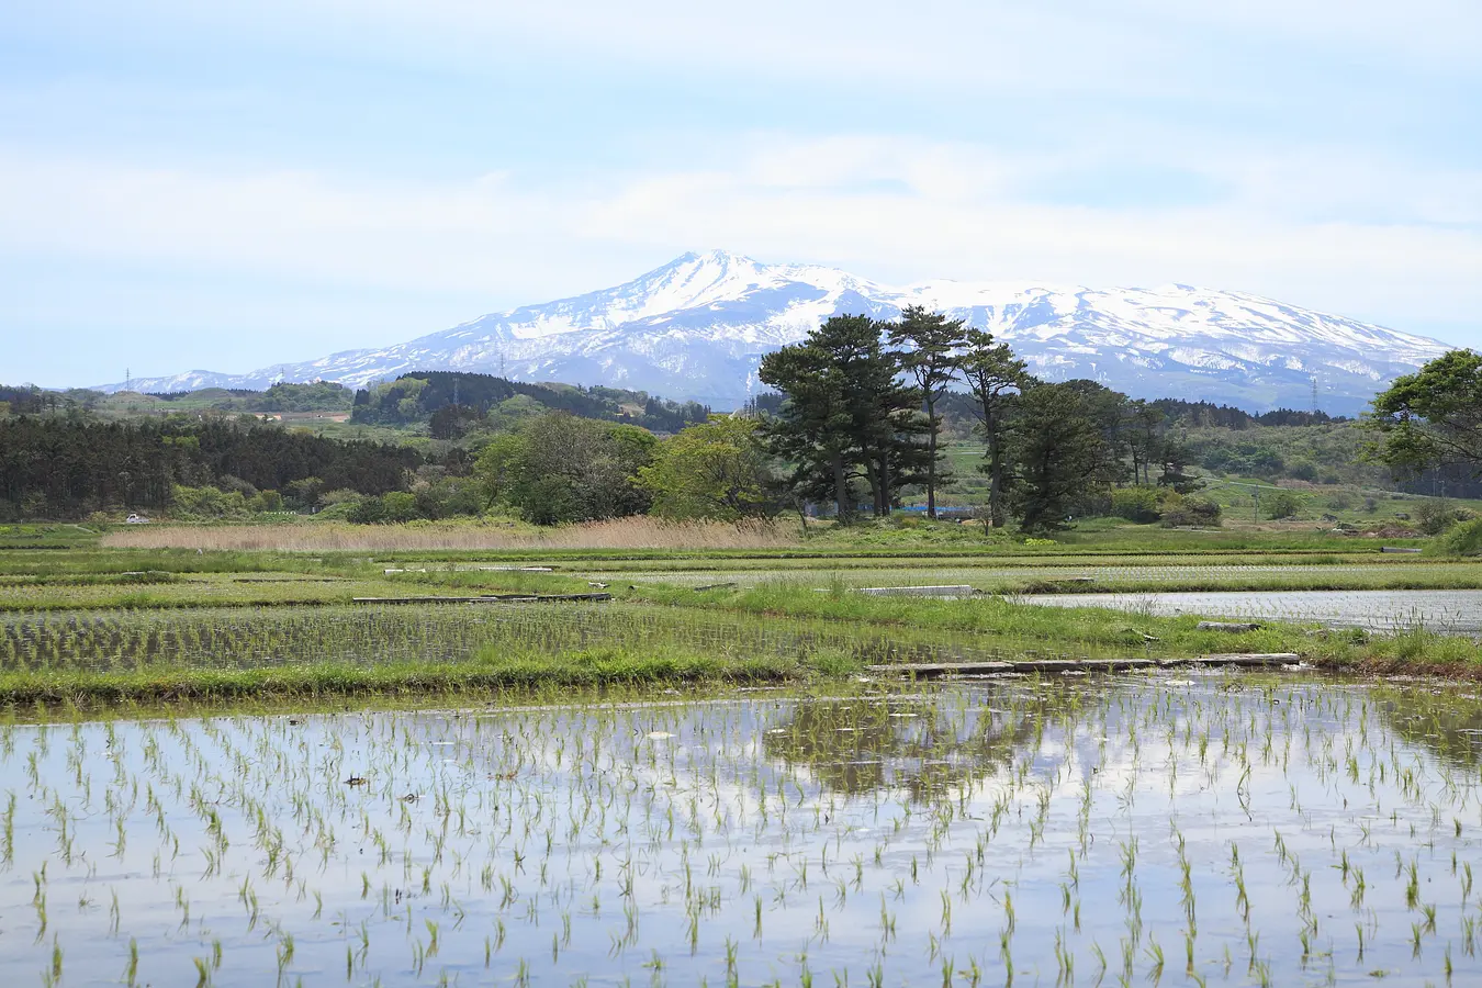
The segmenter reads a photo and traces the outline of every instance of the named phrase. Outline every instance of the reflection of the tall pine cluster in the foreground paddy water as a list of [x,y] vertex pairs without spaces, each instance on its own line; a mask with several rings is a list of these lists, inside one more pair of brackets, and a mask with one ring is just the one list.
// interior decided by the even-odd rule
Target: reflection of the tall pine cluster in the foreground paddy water
[[882,696],[800,702],[791,720],[763,735],[763,748],[823,787],[860,795],[906,790],[928,801],[1014,764],[1039,747],[1052,696],[972,692],[891,702]]

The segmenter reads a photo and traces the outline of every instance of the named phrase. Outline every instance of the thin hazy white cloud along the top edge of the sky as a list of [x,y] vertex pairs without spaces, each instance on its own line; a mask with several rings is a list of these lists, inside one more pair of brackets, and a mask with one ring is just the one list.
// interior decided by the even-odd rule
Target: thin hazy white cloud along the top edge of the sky
[[[144,0],[120,7],[55,0],[33,18],[71,33],[253,40],[301,52],[462,73],[508,52],[683,68],[833,86],[972,92],[1187,95],[1249,89],[1279,76],[1295,43],[1313,55],[1389,70],[1479,74],[1482,6],[1473,0]],[[1249,61],[1257,53],[1255,64]],[[1242,64],[1239,79],[1211,71]]]

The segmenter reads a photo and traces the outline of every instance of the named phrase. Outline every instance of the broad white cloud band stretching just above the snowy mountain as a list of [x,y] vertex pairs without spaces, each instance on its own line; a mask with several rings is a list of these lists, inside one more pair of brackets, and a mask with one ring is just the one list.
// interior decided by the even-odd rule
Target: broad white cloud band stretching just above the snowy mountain
[[[1097,207],[1015,191],[1076,160],[870,135],[754,135],[710,148],[719,164],[579,187],[150,170],[15,151],[0,156],[0,250],[474,290],[511,305],[723,246],[886,280],[1192,281],[1399,329],[1482,308],[1478,175],[1418,175],[1341,150],[1202,154],[1174,164],[1227,184],[1218,201]],[[1372,222],[1371,201],[1386,203]]]

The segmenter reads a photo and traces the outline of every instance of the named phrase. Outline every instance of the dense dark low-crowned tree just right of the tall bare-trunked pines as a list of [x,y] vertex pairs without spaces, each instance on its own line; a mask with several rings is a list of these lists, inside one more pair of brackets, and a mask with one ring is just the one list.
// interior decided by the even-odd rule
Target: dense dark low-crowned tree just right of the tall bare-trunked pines
[[1020,395],[1009,455],[1018,465],[1014,508],[1026,532],[1066,527],[1077,501],[1109,487],[1101,422],[1074,385],[1036,384]]

